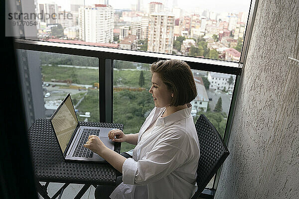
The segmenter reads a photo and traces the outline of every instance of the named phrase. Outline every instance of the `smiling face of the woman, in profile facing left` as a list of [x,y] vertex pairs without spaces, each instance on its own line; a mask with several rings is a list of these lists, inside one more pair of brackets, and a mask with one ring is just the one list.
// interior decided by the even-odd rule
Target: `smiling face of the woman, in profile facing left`
[[157,73],[152,74],[151,84],[149,93],[153,97],[154,106],[168,106],[172,100],[173,94],[171,94],[171,91],[168,90],[167,86],[162,82]]

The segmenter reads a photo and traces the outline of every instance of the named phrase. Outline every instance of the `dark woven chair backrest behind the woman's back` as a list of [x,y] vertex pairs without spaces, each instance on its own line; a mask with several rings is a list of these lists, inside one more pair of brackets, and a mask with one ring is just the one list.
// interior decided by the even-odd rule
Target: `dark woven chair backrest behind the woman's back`
[[201,114],[198,117],[195,128],[199,140],[200,157],[197,167],[197,191],[191,199],[198,198],[229,155],[222,137],[205,115]]

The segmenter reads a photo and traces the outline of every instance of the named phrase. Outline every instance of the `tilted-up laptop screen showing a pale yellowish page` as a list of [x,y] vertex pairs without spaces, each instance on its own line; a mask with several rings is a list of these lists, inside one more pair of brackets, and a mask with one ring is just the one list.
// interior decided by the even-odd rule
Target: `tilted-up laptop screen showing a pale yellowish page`
[[62,153],[64,153],[78,124],[78,119],[70,95],[63,100],[62,104],[60,104],[57,110],[53,113],[51,122]]

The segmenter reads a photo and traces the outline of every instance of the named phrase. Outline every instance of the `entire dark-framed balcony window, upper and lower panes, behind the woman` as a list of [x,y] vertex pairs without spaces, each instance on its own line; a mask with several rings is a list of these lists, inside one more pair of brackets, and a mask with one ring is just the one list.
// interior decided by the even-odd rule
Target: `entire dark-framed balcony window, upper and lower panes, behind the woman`
[[[190,7],[189,1],[184,1],[183,6],[172,6],[174,19],[167,17],[167,23],[162,24],[166,27],[159,28],[173,34],[168,40],[154,31],[157,29],[155,26],[161,25],[157,21],[160,16],[146,17],[143,15],[146,12],[144,8],[132,6],[132,10],[121,10],[117,9],[117,6],[125,8],[122,3],[118,1],[116,4],[116,1],[109,0],[111,6],[98,7],[102,11],[97,17],[93,17],[91,12],[94,11],[89,8],[96,5],[84,5],[84,0],[77,0],[76,5],[57,0],[44,1],[46,2],[41,4],[37,0],[36,12],[49,10],[47,6],[52,6],[52,12],[58,13],[62,13],[66,8],[66,14],[71,13],[74,21],[58,19],[50,23],[46,19],[38,20],[38,25],[29,28],[36,28],[35,35],[30,35],[34,31],[28,33],[26,29],[24,34],[17,36],[33,39],[16,39],[15,42],[21,58],[19,60],[22,60],[19,66],[22,68],[23,93],[26,93],[24,96],[28,99],[24,100],[24,103],[29,125],[37,117],[49,117],[52,103],[50,101],[62,100],[69,92],[74,105],[78,104],[76,109],[79,120],[124,123],[125,133],[136,133],[153,108],[148,93],[149,65],[159,59],[181,59],[190,65],[194,80],[197,81],[199,92],[198,99],[194,100],[196,112],[192,110],[194,121],[200,113],[205,114],[224,139],[227,139],[233,112],[231,105],[234,105],[236,92],[233,92],[234,95],[227,95],[216,90],[218,82],[215,80],[226,79],[225,85],[228,84],[230,92],[238,89],[235,85],[238,85],[236,83],[240,80],[242,70],[239,63],[249,1],[243,2],[242,6],[237,6],[240,2],[230,5],[226,11],[229,14],[226,15],[223,10],[213,11],[208,6],[201,6],[202,10],[196,8],[196,5],[187,9]],[[161,9],[171,7],[172,1],[168,3],[169,5],[164,5]],[[218,7],[226,9],[220,6],[222,3],[217,2]],[[31,8],[35,8],[35,5],[32,4]],[[138,25],[132,24],[133,19],[140,19],[136,18],[134,13],[140,15],[141,22],[139,21]],[[105,19],[105,24],[101,22],[102,19]],[[195,23],[195,28],[192,23]],[[94,27],[101,27],[101,30],[93,31]],[[183,30],[180,27],[183,27]],[[109,31],[102,31],[103,28]],[[136,45],[131,45],[133,50],[121,49],[120,46],[130,34],[136,36]],[[188,43],[188,39],[193,41]],[[163,44],[164,40],[168,43]],[[206,67],[206,64],[209,67]],[[86,75],[86,78],[83,75]],[[144,79],[143,84],[141,79]],[[226,89],[223,86],[222,88]],[[203,100],[205,97],[207,100]],[[130,114],[126,112],[128,108]],[[122,144],[121,150],[127,151],[132,147],[133,145]],[[215,182],[217,184],[217,180]],[[214,189],[215,182],[212,180],[207,188]]]

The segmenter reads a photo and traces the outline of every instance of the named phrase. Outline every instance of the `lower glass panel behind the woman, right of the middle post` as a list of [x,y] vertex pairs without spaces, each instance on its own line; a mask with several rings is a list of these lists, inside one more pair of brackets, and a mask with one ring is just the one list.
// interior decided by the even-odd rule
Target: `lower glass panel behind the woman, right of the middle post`
[[[125,133],[139,132],[154,107],[149,94],[151,86],[149,67],[149,64],[114,60],[113,122],[124,123]],[[192,70],[192,73],[198,94],[191,101],[194,122],[200,114],[204,114],[223,137],[236,77],[198,70]],[[218,81],[213,81],[212,84],[211,80],[215,77],[218,77]],[[218,84],[221,86],[216,86]],[[133,148],[134,145],[122,144],[122,151]]]

